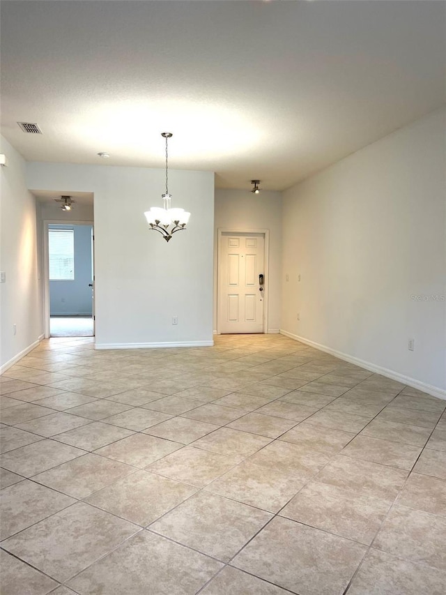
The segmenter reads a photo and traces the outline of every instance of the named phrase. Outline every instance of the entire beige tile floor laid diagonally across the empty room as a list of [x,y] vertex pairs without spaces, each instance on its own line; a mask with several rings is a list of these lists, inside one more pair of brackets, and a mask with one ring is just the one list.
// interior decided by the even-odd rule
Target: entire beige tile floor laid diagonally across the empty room
[[446,401],[284,336],[0,378],[2,595],[444,595]]

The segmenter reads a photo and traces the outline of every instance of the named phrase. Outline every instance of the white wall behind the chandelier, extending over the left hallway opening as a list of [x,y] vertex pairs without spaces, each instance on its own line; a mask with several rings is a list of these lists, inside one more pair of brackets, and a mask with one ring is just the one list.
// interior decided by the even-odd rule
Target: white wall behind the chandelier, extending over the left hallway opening
[[29,163],[27,181],[94,193],[96,347],[212,344],[212,172],[169,172],[172,206],[192,213],[169,243],[144,218],[162,206],[163,170]]

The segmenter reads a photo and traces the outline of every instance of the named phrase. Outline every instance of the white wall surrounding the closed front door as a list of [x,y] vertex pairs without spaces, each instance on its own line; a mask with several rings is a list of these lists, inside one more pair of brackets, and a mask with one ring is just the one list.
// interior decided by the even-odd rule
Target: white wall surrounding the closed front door
[[217,328],[217,229],[269,229],[268,331],[280,329],[282,262],[282,195],[262,190],[215,190],[214,330]]

